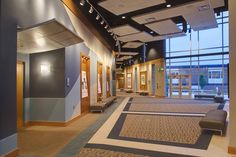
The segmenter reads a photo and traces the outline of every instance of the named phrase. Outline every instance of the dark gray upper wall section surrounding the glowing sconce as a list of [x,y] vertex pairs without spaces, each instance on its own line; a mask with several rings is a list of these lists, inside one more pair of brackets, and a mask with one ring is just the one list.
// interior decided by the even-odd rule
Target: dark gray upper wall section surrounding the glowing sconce
[[[41,65],[50,65],[50,73],[41,73]],[[65,49],[30,55],[30,97],[64,98]]]

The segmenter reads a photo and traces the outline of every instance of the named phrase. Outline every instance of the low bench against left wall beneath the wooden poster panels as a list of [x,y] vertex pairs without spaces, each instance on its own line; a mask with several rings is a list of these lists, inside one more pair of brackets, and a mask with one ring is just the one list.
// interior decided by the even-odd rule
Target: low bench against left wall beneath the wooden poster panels
[[109,107],[114,102],[114,100],[116,100],[116,97],[112,96],[92,104],[90,105],[90,112],[104,112],[104,110]]

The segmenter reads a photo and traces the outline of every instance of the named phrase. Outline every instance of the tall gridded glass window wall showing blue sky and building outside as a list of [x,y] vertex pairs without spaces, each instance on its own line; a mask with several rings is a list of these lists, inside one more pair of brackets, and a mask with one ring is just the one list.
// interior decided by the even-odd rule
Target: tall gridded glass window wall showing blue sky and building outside
[[188,26],[186,36],[166,40],[167,75],[191,75],[192,96],[200,92],[228,97],[228,12],[216,18],[217,28],[193,31]]

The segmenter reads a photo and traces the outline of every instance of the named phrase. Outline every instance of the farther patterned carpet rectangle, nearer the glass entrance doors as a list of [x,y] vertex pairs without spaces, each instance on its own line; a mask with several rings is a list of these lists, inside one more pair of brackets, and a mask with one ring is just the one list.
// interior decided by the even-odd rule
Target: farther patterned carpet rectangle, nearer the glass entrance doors
[[202,100],[143,99],[134,98],[127,104],[124,111],[205,114],[210,110],[224,107],[224,104]]

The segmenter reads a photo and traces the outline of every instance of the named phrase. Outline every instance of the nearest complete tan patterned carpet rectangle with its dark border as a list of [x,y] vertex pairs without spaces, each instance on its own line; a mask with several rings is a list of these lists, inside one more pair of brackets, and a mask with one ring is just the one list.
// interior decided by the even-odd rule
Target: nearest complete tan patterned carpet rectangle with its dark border
[[109,138],[207,149],[212,134],[201,132],[201,117],[123,113]]

